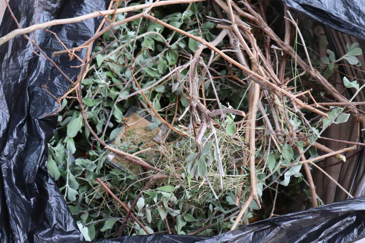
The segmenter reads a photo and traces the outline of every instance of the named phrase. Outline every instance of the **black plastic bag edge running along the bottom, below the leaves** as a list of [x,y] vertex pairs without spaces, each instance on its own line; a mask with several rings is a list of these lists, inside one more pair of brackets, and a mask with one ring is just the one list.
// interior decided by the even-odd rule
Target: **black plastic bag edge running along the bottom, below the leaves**
[[203,239],[201,236],[126,236],[99,243],[314,243],[354,242],[365,237],[365,197],[347,199],[306,211],[262,220],[234,231]]

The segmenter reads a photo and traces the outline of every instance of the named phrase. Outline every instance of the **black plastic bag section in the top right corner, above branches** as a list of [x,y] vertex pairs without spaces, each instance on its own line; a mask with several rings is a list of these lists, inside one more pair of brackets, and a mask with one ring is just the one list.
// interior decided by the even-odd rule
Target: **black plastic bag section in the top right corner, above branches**
[[365,3],[355,0],[283,0],[313,19],[365,40]]

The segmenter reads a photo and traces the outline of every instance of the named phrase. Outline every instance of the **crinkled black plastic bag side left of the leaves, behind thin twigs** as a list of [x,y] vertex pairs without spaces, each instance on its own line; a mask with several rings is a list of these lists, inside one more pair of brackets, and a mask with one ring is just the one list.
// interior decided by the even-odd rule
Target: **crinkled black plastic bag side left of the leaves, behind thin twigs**
[[[106,9],[104,0],[39,0],[38,23],[65,19]],[[4,3],[3,3],[4,4]],[[33,0],[12,0],[10,5],[21,27],[34,24]],[[101,19],[50,28],[68,47],[92,37]],[[18,28],[9,11],[4,14],[0,36]],[[32,38],[33,34],[30,35]],[[54,36],[38,30],[35,41],[70,79],[77,74],[76,62],[62,50]],[[35,48],[35,47],[34,47]],[[86,51],[82,52],[84,56]],[[66,201],[47,173],[47,142],[53,136],[57,115],[47,116],[58,104],[56,97],[68,89],[68,81],[47,60],[32,53],[30,43],[17,36],[0,47],[0,241],[74,242],[82,240]]]

